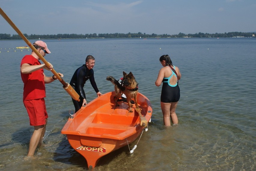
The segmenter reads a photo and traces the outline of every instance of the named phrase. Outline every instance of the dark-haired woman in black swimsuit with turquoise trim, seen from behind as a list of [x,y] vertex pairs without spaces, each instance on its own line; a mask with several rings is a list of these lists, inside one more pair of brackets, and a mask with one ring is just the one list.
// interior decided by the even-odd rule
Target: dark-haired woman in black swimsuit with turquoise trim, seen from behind
[[159,60],[163,67],[158,73],[155,84],[157,87],[159,87],[163,82],[161,93],[163,123],[165,126],[171,126],[171,118],[172,124],[177,125],[178,117],[175,113],[175,110],[180,98],[178,80],[181,79],[181,73],[177,66],[172,65],[172,61],[169,55],[162,55]]

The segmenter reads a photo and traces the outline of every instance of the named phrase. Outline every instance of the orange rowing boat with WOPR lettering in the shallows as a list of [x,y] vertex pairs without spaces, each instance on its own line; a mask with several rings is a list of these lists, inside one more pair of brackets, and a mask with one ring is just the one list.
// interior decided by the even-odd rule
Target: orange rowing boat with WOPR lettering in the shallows
[[114,96],[112,91],[94,99],[71,116],[62,128],[61,133],[66,134],[72,148],[84,156],[89,168],[94,168],[102,156],[123,146],[129,147],[148,130],[152,116],[148,98],[138,92],[139,108],[133,105],[133,112],[129,113],[126,102],[119,101],[120,106],[115,106]]

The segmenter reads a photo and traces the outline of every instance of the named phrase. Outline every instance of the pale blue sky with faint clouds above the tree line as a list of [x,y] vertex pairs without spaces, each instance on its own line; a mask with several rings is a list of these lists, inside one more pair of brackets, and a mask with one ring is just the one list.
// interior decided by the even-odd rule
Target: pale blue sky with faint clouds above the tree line
[[[1,0],[28,35],[256,32],[256,0]],[[0,17],[0,33],[17,34]]]

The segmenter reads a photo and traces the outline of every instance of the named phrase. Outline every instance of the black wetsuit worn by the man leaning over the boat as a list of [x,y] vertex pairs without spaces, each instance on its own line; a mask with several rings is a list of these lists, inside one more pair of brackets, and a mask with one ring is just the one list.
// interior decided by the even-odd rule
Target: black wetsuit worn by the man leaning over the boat
[[96,93],[98,93],[99,90],[98,90],[96,82],[94,80],[93,69],[89,70],[87,68],[86,64],[79,67],[75,71],[75,73],[72,76],[72,79],[69,83],[75,89],[75,91],[78,93],[78,95],[80,96],[79,97],[79,99],[80,99],[79,102],[72,99],[76,112],[82,107],[83,100],[86,99],[86,96],[85,96],[85,93],[84,93],[84,84],[88,79],[90,79],[91,85],[93,86]]

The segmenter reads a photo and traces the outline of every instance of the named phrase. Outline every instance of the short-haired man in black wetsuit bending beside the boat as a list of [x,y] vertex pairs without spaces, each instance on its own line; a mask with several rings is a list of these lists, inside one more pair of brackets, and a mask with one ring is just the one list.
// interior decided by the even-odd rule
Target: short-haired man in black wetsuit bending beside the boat
[[97,93],[97,96],[99,97],[102,95],[99,92],[96,82],[94,80],[94,73],[93,73],[94,64],[95,64],[95,58],[92,55],[88,55],[86,57],[85,64],[83,64],[81,67],[79,67],[75,71],[69,83],[78,93],[78,95],[80,95],[79,102],[72,99],[73,104],[75,106],[75,112],[77,112],[83,105],[87,104],[86,96],[84,93],[84,84],[88,79],[90,79],[91,85],[93,86],[95,92]]

